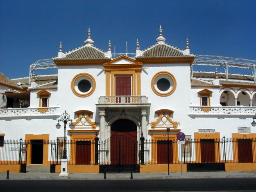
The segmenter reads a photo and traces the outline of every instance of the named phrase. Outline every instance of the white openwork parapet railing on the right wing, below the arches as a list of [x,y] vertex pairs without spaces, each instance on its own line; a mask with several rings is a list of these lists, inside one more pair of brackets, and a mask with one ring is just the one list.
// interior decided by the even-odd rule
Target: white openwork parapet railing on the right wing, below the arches
[[[256,107],[247,106],[189,106],[190,114],[248,114],[254,115]],[[205,110],[205,108],[207,110]]]

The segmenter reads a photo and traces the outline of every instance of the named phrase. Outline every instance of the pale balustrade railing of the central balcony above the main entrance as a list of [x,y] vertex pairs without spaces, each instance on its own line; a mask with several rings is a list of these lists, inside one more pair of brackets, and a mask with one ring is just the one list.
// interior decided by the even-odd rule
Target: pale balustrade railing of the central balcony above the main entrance
[[100,96],[99,104],[147,104],[148,97],[136,96]]

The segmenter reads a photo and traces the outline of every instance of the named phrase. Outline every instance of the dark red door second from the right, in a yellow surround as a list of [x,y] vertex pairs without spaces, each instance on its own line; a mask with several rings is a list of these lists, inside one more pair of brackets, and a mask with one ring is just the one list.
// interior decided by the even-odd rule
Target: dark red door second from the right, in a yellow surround
[[213,139],[201,139],[201,162],[214,163],[215,162],[215,145]]

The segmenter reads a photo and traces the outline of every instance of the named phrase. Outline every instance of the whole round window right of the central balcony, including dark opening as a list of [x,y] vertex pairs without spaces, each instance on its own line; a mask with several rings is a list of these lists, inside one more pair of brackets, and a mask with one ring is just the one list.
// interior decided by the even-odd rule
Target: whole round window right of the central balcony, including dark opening
[[176,79],[170,72],[158,72],[152,78],[151,88],[156,95],[161,97],[169,96],[176,89]]

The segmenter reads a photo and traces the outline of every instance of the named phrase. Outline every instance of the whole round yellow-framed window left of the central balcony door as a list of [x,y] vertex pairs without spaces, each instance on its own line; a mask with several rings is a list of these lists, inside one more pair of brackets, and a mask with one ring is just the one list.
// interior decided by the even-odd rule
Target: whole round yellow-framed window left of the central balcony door
[[71,89],[78,97],[90,96],[94,92],[95,87],[95,79],[88,73],[76,75],[71,82]]

